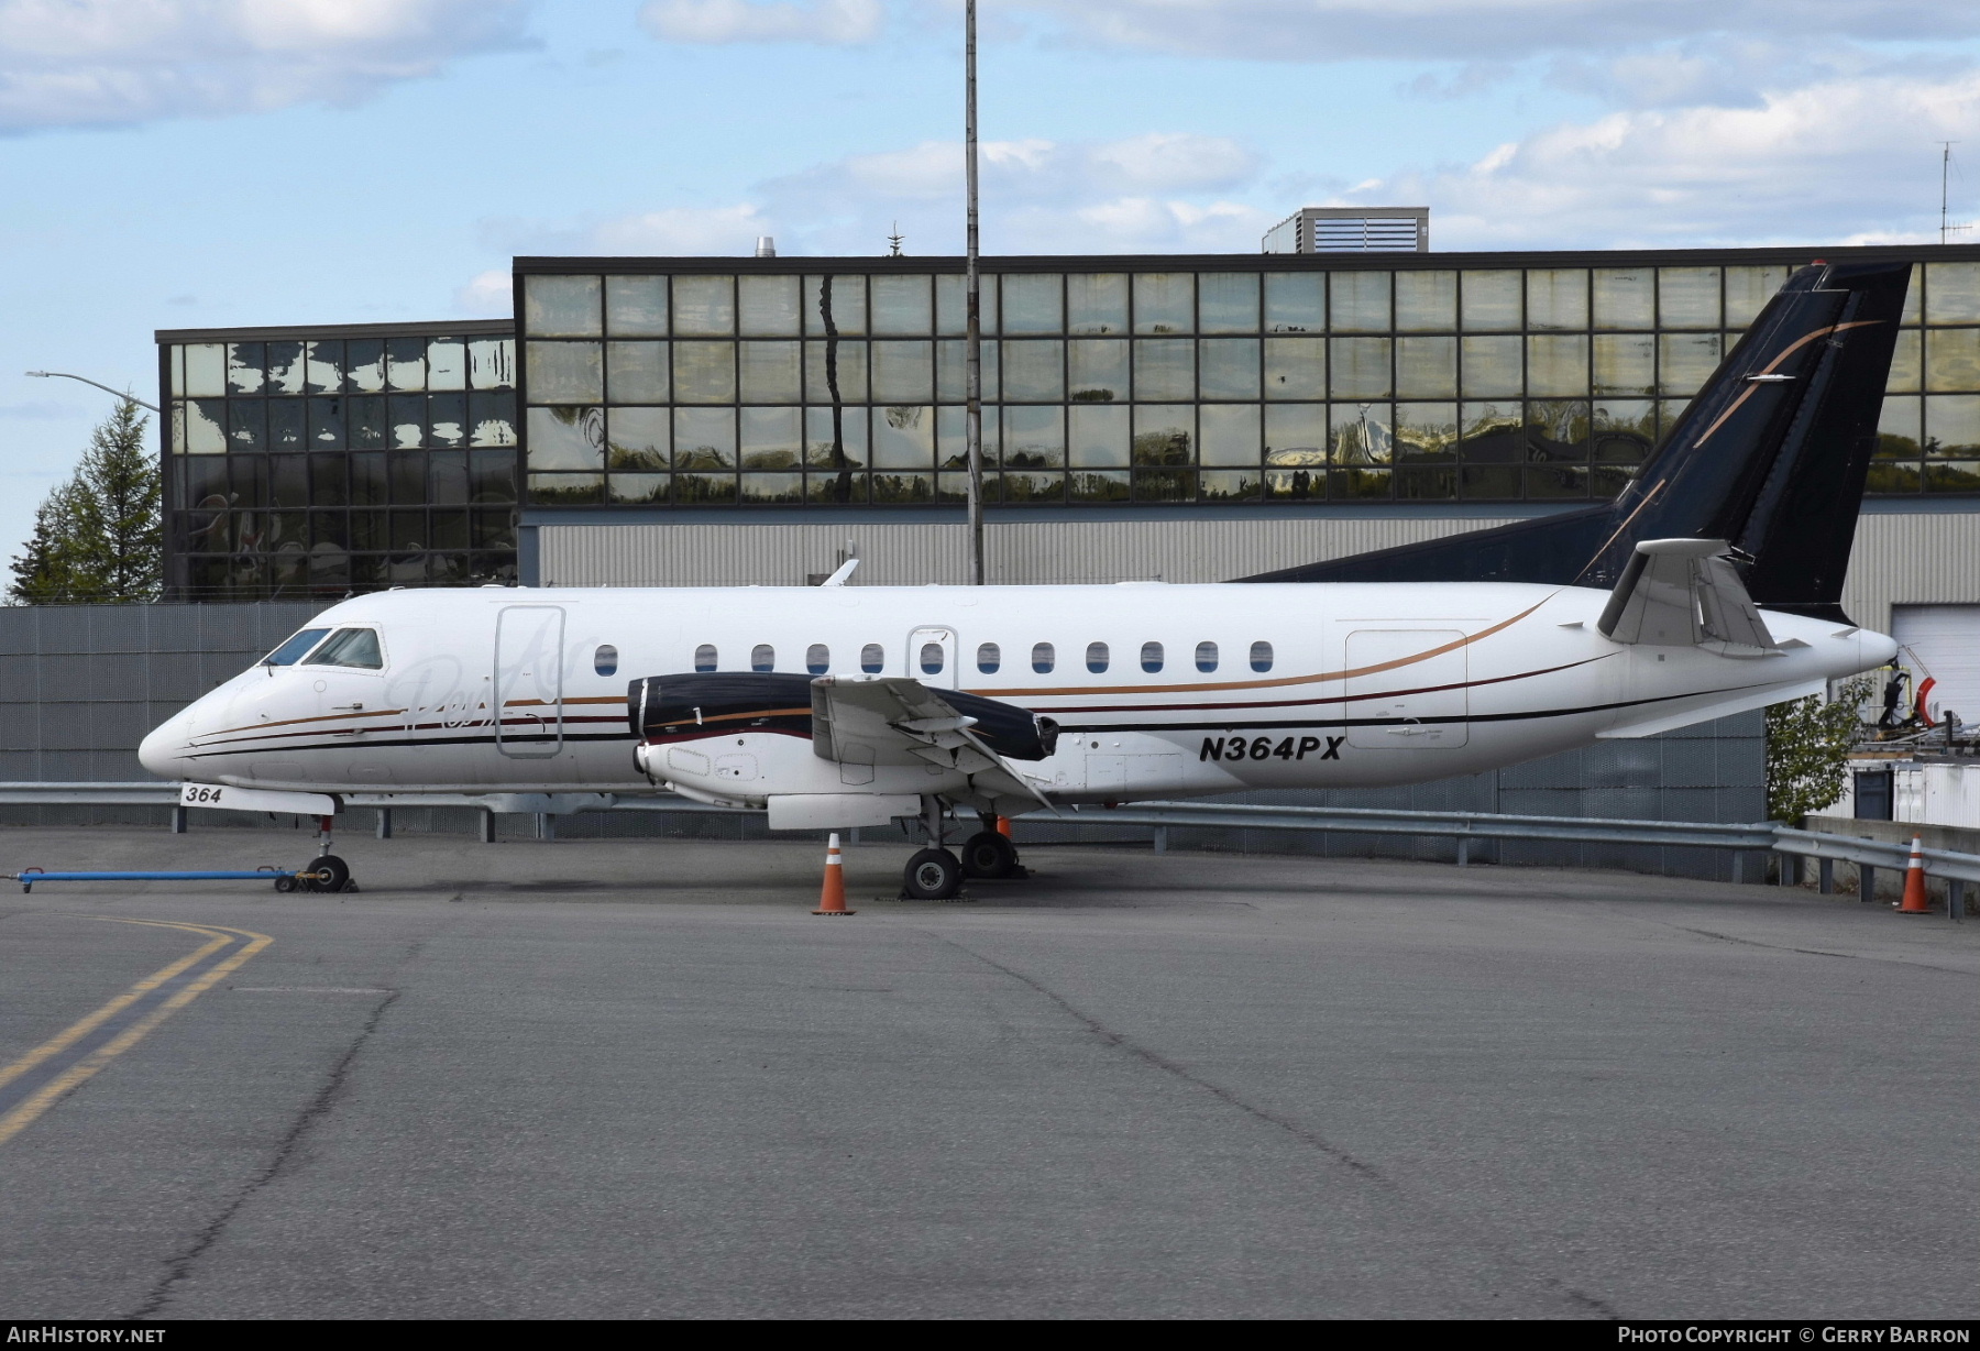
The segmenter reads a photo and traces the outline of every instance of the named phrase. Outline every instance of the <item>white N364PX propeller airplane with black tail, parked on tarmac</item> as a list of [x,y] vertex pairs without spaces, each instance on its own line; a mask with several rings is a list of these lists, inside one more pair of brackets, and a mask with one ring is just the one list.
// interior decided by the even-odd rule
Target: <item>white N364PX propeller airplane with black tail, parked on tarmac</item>
[[[1418,547],[1398,571],[1432,576],[1396,582],[390,590],[141,757],[240,810],[671,790],[772,830],[919,816],[905,889],[944,897],[1016,870],[998,816],[1471,775],[1818,693],[1897,652],[1835,600],[1903,289],[1796,273],[1616,503],[1441,541],[1509,580],[1436,578]],[[960,858],[956,810],[982,820]]]

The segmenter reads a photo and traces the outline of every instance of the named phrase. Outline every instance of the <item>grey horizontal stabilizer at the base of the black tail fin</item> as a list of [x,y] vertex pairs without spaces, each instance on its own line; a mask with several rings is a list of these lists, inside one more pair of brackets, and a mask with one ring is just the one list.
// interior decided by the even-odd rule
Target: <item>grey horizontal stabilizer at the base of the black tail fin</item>
[[1780,652],[1725,557],[1723,539],[1645,539],[1635,547],[1596,628],[1628,644],[1705,648],[1729,658]]

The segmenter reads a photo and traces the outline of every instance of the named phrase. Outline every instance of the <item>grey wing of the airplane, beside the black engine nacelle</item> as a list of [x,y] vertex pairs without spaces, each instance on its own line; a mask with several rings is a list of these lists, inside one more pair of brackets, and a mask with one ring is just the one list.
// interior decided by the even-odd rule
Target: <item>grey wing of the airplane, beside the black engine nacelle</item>
[[[958,699],[956,703],[962,703]],[[1040,784],[984,745],[970,717],[919,679],[881,676],[812,681],[812,753],[840,765],[935,765],[960,771],[980,798],[1051,808]]]

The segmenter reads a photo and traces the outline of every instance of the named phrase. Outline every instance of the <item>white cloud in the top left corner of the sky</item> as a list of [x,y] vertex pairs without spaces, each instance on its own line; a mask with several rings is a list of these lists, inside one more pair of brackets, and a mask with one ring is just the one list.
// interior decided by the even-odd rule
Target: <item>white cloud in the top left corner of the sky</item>
[[350,103],[519,42],[525,0],[0,0],[0,133]]

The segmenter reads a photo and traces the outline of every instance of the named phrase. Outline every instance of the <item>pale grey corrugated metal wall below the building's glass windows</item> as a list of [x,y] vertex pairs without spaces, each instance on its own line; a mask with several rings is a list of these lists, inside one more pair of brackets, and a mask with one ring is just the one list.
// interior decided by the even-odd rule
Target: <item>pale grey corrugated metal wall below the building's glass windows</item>
[[[1020,521],[984,527],[992,582],[1216,582],[1271,569],[1439,539],[1509,517],[1313,517]],[[543,525],[544,586],[802,586],[859,549],[869,586],[960,584],[960,525]],[[1843,608],[1879,632],[1893,604],[1980,602],[1980,511],[1877,513],[1857,521]]]

